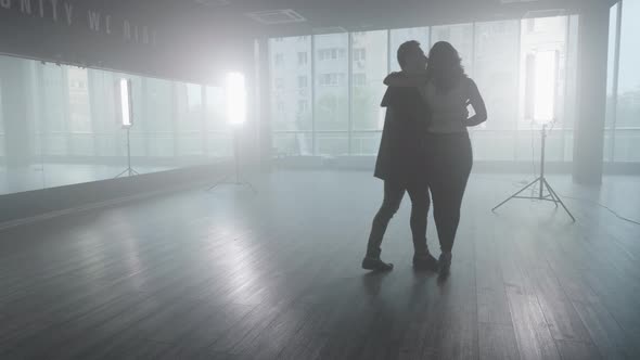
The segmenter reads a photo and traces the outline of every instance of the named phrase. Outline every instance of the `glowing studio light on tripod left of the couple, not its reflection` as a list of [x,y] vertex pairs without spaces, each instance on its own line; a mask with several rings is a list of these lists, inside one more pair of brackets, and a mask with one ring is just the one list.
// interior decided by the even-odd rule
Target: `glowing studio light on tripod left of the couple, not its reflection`
[[233,129],[233,163],[235,167],[235,181],[228,181],[231,176],[225,178],[225,181],[213,184],[208,190],[221,184],[241,185],[249,188],[254,193],[255,188],[240,180],[240,141],[239,134],[246,123],[246,86],[244,75],[241,73],[229,73],[226,83],[227,92],[227,124]]

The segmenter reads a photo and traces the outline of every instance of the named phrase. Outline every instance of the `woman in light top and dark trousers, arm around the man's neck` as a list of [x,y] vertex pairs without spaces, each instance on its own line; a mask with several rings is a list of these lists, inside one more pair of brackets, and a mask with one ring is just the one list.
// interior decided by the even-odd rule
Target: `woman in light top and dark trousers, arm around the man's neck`
[[[426,134],[427,181],[440,242],[439,270],[447,274],[473,163],[466,128],[484,123],[487,110],[475,82],[464,74],[458,51],[446,41],[436,42],[431,49],[425,75],[394,73],[384,83],[419,87],[431,111]],[[468,105],[473,106],[475,115],[469,117]]]

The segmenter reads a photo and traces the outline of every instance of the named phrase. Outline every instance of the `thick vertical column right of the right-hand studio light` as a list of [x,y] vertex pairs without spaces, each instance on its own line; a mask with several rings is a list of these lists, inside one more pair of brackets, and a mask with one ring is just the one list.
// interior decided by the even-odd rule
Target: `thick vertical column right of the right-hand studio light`
[[609,7],[590,1],[578,27],[578,111],[574,134],[574,182],[600,184],[606,108]]

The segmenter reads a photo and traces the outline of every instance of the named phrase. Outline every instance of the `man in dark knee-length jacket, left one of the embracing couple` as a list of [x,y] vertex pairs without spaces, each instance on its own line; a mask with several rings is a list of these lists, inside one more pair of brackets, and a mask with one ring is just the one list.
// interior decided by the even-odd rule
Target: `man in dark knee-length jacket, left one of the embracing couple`
[[[402,73],[424,74],[426,56],[418,41],[402,43],[397,57]],[[384,200],[373,218],[362,268],[374,271],[393,269],[393,263],[386,263],[380,258],[380,246],[388,222],[400,207],[405,192],[408,192],[411,197],[413,267],[436,270],[437,260],[426,246],[426,215],[430,207],[423,146],[428,125],[426,104],[418,88],[396,87],[387,88],[381,106],[386,107],[386,117],[374,176],[384,180]]]

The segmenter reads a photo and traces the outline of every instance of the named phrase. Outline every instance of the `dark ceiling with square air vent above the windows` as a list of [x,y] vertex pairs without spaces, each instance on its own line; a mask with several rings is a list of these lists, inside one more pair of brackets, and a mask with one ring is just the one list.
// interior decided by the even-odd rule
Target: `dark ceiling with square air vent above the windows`
[[[138,0],[158,3],[157,0]],[[195,12],[214,35],[295,36],[469,23],[577,13],[614,0],[162,0],[166,9]],[[249,15],[293,10],[300,22],[263,24]],[[269,18],[282,17],[271,14]],[[333,29],[331,29],[333,28]],[[336,29],[337,28],[337,29]]]

